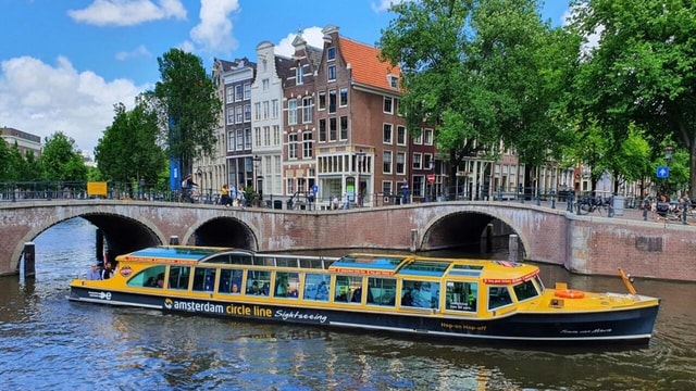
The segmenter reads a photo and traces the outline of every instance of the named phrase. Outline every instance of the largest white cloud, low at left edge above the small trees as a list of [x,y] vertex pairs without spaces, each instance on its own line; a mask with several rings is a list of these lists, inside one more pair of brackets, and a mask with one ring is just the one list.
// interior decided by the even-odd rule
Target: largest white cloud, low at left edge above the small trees
[[105,81],[91,71],[77,72],[70,60],[49,65],[30,56],[0,63],[0,126],[46,137],[61,130],[75,146],[92,152],[113,122],[113,105],[132,109],[150,86],[127,79]]

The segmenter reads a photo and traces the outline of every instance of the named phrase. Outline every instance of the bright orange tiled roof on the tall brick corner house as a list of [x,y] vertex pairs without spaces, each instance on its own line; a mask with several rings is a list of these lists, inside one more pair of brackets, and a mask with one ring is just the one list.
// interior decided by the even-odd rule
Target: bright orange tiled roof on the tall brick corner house
[[387,75],[394,75],[400,79],[401,70],[398,66],[391,66],[388,62],[381,62],[377,59],[380,49],[344,37],[339,38],[338,45],[346,63],[350,64],[355,83],[394,90]]

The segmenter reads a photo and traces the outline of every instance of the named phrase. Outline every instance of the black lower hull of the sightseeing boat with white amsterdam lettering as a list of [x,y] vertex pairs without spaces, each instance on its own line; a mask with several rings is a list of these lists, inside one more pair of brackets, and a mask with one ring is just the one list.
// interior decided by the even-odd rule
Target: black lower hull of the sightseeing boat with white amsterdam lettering
[[261,302],[221,301],[71,287],[70,300],[109,305],[136,306],[223,318],[263,320],[383,330],[453,339],[518,342],[647,342],[652,333],[658,305],[625,310],[575,313],[513,313],[498,318],[448,317],[430,310],[387,313],[384,308],[360,311],[294,306]]

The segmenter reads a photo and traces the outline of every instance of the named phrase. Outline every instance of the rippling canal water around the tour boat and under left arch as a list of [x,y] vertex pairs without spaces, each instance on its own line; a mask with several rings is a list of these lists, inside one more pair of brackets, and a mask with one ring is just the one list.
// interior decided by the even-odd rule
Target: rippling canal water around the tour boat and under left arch
[[[696,283],[636,281],[662,298],[646,346],[471,345],[69,302],[94,241],[89,223],[65,222],[35,240],[36,280],[0,278],[2,390],[696,389]],[[625,291],[556,266],[542,277]]]

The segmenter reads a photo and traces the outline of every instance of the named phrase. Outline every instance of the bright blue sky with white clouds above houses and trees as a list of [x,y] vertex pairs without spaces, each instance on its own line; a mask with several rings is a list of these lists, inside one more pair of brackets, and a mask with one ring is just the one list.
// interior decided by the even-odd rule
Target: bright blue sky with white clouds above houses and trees
[[[268,40],[279,53],[302,29],[321,47],[321,28],[375,43],[394,0],[0,0],[0,126],[41,136],[61,130],[92,152],[113,121],[160,78],[157,58],[182,48],[203,60],[256,61]],[[399,0],[400,1],[400,0]],[[542,14],[560,25],[568,0]]]

